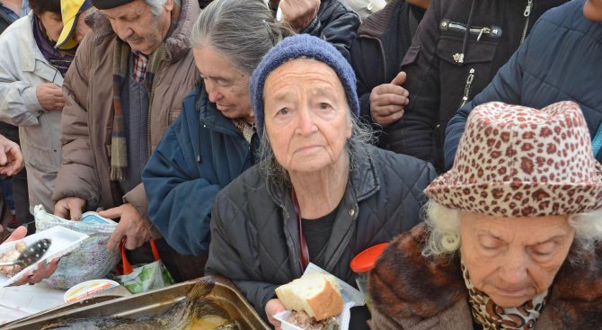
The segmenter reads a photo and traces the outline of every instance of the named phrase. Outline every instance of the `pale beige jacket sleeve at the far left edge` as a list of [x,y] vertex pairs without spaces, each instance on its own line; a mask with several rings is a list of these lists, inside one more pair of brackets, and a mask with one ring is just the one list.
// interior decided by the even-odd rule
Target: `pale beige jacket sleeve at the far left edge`
[[[4,33],[0,38],[0,120],[15,126],[39,125],[38,116],[42,109],[36,94],[37,85],[21,80],[19,45],[10,44],[13,33]],[[9,50],[12,49],[12,50]]]

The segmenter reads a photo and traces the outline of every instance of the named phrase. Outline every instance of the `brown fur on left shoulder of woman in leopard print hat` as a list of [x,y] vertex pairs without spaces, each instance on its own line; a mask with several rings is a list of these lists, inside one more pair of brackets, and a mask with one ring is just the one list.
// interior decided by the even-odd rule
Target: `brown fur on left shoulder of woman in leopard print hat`
[[368,292],[381,314],[394,318],[434,317],[467,293],[457,258],[427,259],[425,225],[394,238],[369,274]]

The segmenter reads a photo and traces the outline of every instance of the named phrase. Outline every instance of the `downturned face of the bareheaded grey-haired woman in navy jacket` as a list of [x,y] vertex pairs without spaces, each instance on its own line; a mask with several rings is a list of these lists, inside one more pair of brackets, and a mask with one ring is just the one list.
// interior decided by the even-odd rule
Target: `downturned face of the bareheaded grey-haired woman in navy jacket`
[[229,119],[255,121],[249,100],[249,76],[235,69],[230,59],[207,46],[192,49],[209,101]]

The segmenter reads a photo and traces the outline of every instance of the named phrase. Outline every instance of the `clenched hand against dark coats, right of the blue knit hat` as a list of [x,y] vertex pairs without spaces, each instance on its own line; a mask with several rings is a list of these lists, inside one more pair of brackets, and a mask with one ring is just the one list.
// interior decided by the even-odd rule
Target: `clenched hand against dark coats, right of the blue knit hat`
[[377,124],[386,126],[400,120],[403,109],[410,102],[408,91],[401,85],[405,83],[405,72],[394,77],[391,84],[377,85],[370,93],[370,114]]

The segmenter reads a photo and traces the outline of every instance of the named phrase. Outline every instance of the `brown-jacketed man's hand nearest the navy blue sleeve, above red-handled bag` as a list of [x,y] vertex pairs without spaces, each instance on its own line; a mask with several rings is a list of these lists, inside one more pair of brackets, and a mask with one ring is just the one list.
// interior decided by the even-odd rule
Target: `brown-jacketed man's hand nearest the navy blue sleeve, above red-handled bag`
[[107,244],[109,250],[117,249],[124,237],[126,238],[126,248],[128,250],[133,250],[151,239],[142,215],[129,203],[117,208],[103,210],[98,214],[101,217],[109,219],[120,218],[119,224],[115,228],[111,238],[109,238],[109,243]]

